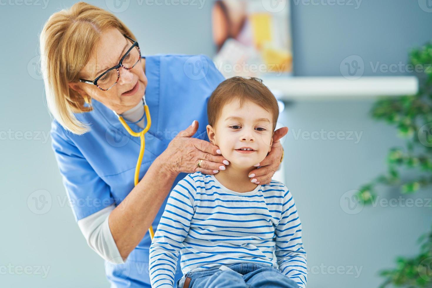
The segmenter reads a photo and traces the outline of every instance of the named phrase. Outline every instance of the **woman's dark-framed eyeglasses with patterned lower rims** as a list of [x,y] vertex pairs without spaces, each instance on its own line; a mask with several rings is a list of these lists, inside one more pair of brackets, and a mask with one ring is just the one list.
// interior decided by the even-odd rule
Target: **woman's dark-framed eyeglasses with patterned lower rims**
[[120,62],[104,73],[96,77],[93,81],[86,79],[79,79],[79,82],[84,82],[87,84],[96,85],[102,91],[107,91],[111,89],[112,86],[117,84],[118,79],[120,78],[119,68],[123,67],[126,70],[130,70],[135,66],[141,59],[141,51],[138,46],[138,42],[128,37],[126,34],[123,34],[124,37],[132,41],[132,46],[127,50],[127,52],[121,57]]

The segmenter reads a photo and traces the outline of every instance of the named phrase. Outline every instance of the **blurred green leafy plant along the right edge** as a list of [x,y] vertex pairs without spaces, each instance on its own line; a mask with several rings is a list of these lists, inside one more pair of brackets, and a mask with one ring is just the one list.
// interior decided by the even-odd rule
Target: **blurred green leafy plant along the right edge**
[[[419,138],[429,136],[427,126],[425,128],[424,125],[432,123],[432,69],[426,69],[432,63],[432,43],[411,49],[409,59],[414,66],[423,68],[423,73],[419,74],[419,92],[416,95],[380,97],[369,111],[374,119],[397,128],[398,136],[407,139],[406,149],[394,147],[389,150],[386,158],[388,175],[379,175],[359,189],[358,196],[364,203],[371,203],[371,199],[375,199],[378,184],[397,185],[403,193],[414,193],[432,184],[432,147],[429,147],[429,142],[425,142],[425,139]],[[424,131],[419,131],[420,127]],[[418,151],[425,154],[419,154]],[[416,168],[424,175],[416,175],[417,179],[401,183],[402,168]],[[420,249],[416,256],[398,256],[393,269],[379,272],[384,278],[380,288],[432,288],[432,225],[431,231],[419,237],[418,242]]]

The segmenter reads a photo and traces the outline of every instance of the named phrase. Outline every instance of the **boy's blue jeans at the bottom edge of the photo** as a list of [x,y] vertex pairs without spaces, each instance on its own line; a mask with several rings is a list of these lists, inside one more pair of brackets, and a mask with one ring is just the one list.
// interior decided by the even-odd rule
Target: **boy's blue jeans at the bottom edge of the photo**
[[[239,263],[219,269],[187,272],[185,288],[299,288],[297,283],[278,269],[266,264]],[[177,288],[183,288],[177,281]]]

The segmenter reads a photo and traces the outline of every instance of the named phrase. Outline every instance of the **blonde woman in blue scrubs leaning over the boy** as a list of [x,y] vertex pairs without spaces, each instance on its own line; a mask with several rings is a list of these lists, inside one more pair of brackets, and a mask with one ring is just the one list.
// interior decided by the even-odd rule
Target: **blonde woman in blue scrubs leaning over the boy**
[[[223,77],[205,56],[143,57],[123,22],[83,2],[54,13],[40,45],[52,146],[79,228],[105,259],[112,286],[150,287],[146,231],[156,231],[168,193],[187,173],[229,165],[206,134],[206,102]],[[113,111],[141,131],[144,92],[152,124],[134,187],[140,139]],[[287,131],[275,133],[251,181],[270,183]],[[175,281],[181,276],[177,263]]]

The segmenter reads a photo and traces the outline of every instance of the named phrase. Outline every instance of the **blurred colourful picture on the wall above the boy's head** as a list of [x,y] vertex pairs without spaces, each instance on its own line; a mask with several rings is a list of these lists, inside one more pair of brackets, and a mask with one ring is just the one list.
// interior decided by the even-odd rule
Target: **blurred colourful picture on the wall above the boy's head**
[[214,62],[225,77],[292,75],[289,1],[217,0]]

